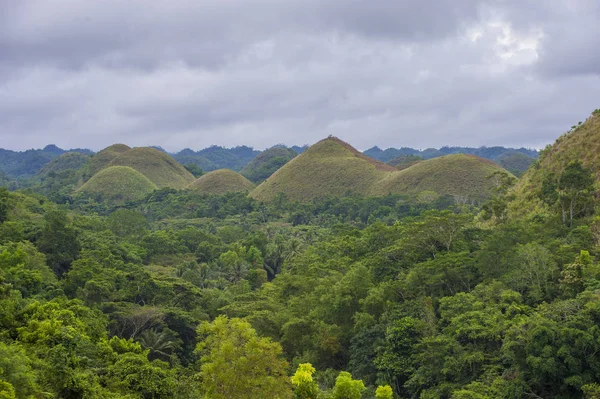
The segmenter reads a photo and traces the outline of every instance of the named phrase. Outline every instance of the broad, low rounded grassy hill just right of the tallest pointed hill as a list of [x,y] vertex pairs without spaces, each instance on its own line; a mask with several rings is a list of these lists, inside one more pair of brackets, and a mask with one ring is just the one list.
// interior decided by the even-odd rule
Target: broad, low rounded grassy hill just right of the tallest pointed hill
[[494,162],[474,155],[454,154],[416,163],[375,183],[372,195],[434,191],[462,200],[484,200],[492,195],[489,176],[505,171]]

